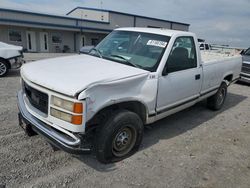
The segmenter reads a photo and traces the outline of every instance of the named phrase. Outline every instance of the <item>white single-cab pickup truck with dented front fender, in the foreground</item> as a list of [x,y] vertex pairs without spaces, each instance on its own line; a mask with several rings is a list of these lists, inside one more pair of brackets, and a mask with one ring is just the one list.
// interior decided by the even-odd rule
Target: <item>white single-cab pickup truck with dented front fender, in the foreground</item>
[[201,55],[190,32],[116,29],[87,55],[25,64],[19,124],[69,153],[119,161],[138,150],[144,125],[206,98],[219,110],[241,64],[241,56]]

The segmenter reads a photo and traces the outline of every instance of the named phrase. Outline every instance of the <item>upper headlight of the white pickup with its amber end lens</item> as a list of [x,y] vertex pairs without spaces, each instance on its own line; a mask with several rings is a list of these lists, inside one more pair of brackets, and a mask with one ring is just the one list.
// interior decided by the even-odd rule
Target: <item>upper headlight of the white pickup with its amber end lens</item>
[[57,106],[59,108],[63,108],[70,112],[74,113],[82,113],[83,107],[82,103],[74,103],[65,99],[61,99],[59,97],[52,96],[52,105]]

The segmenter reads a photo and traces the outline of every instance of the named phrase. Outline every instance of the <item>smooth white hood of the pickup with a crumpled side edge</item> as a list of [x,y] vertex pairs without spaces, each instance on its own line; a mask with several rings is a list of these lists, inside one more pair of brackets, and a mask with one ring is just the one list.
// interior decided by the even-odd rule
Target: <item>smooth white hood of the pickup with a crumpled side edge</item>
[[46,59],[21,68],[22,77],[28,81],[68,96],[75,96],[91,85],[148,73],[90,55]]

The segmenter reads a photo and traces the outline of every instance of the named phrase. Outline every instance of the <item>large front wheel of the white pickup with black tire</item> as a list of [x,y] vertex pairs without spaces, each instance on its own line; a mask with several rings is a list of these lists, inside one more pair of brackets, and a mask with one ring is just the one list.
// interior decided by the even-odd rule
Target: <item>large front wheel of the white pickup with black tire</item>
[[112,163],[133,155],[140,147],[143,128],[142,120],[136,113],[116,111],[97,130],[97,159],[101,163]]

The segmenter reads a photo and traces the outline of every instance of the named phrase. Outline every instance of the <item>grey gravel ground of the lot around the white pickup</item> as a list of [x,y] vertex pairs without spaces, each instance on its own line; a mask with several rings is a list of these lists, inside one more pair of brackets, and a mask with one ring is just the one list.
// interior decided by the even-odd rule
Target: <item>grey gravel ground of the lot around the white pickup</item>
[[250,187],[250,87],[229,87],[222,110],[205,102],[145,128],[140,151],[109,165],[53,151],[18,126],[19,71],[0,78],[0,188]]

